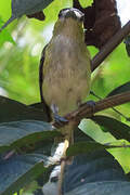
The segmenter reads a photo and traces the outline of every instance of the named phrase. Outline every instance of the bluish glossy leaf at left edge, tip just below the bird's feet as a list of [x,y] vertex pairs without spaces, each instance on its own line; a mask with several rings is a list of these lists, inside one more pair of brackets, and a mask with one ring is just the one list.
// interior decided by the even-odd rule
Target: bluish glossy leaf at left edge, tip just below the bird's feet
[[0,125],[0,152],[17,148],[41,140],[51,140],[60,135],[48,122],[23,120]]

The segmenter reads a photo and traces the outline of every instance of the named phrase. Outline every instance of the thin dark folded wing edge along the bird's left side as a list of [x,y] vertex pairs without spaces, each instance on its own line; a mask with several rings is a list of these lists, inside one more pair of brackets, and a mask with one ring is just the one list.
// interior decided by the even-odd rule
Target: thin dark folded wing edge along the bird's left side
[[51,118],[51,110],[50,107],[47,105],[44,99],[43,99],[43,91],[42,91],[42,84],[43,84],[43,63],[44,63],[44,58],[46,58],[46,48],[48,47],[48,44],[43,48],[42,54],[41,54],[41,58],[40,58],[40,65],[39,65],[39,87],[40,87],[40,98],[41,98],[41,102],[42,104],[44,104],[44,108],[47,112],[47,115],[49,117],[49,121],[52,120]]

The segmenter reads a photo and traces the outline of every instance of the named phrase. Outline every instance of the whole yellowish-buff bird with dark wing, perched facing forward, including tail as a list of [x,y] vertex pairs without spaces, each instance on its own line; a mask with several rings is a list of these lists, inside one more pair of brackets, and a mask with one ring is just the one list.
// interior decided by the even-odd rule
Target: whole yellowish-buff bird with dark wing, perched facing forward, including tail
[[[84,102],[91,87],[91,57],[84,43],[83,18],[84,14],[78,9],[61,10],[40,58],[41,102],[51,110],[50,118],[63,122],[64,115]],[[75,121],[69,121],[60,129],[65,148],[74,142],[75,126]]]

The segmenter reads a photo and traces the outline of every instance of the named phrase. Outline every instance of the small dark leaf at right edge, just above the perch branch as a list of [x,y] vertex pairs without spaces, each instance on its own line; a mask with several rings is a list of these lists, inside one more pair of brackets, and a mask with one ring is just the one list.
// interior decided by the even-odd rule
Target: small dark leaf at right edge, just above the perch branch
[[107,96],[112,96],[127,91],[130,91],[130,82],[126,82],[122,86],[119,86],[118,88],[114,89],[110,93],[107,94]]

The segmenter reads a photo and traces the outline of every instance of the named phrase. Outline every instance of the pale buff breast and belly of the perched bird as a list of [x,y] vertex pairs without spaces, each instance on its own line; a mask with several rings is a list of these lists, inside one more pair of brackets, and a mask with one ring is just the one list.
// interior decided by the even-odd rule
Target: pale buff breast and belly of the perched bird
[[[82,50],[82,47],[84,50]],[[60,115],[77,107],[90,90],[90,60],[86,46],[57,37],[46,53],[43,94],[46,102],[56,104]]]

